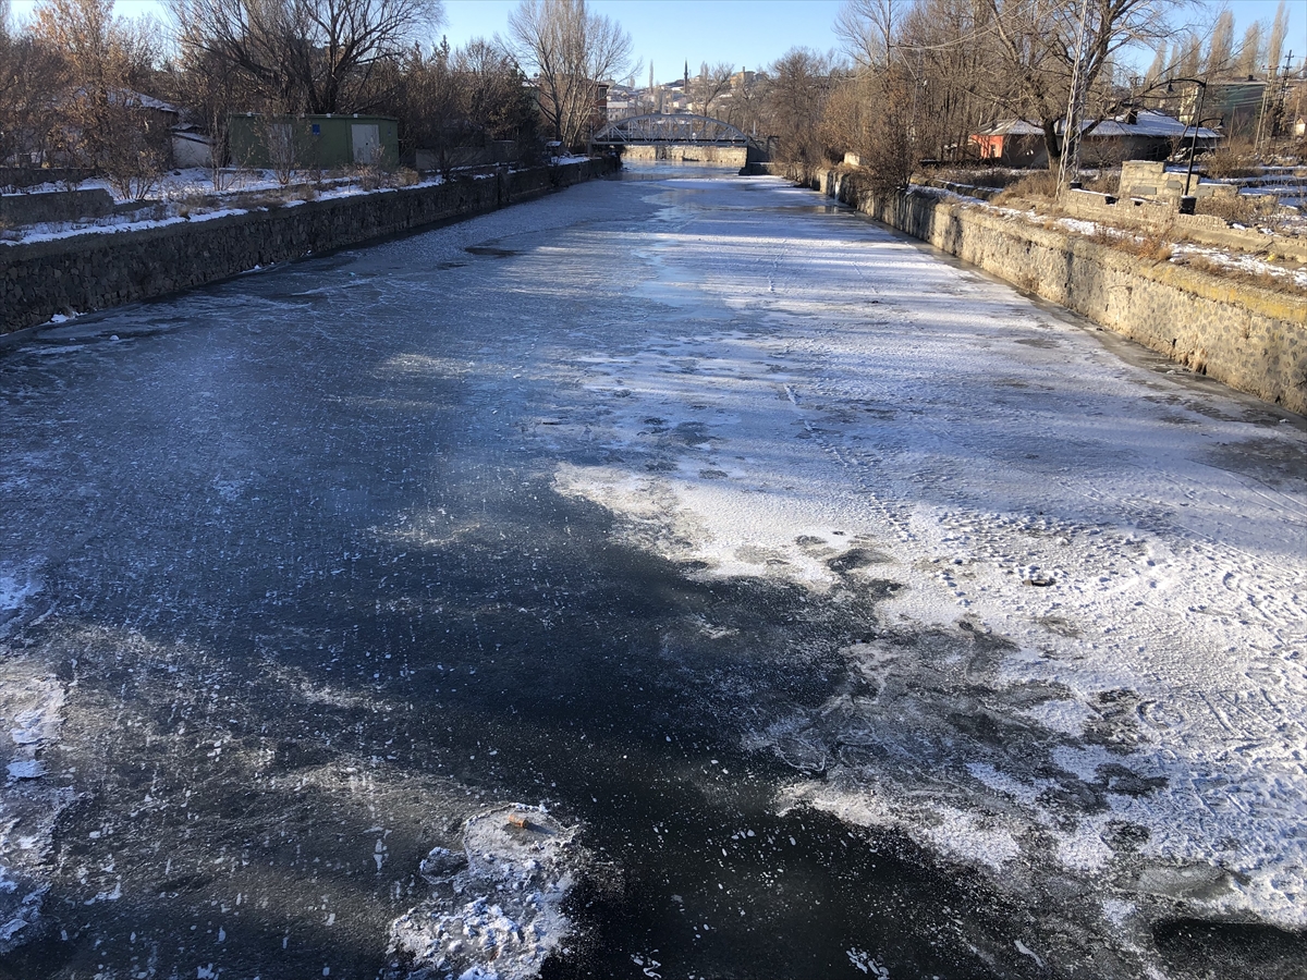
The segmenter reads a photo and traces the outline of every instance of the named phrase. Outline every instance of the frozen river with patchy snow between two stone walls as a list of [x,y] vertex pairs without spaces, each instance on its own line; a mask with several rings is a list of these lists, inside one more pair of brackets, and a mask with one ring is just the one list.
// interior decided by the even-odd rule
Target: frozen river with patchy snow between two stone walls
[[1304,447],[727,171],[71,321],[0,980],[1302,977]]

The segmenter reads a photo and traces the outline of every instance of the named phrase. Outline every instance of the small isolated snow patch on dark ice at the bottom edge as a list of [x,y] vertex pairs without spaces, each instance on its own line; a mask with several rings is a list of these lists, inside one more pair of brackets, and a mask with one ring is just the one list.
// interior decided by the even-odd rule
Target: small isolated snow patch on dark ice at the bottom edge
[[561,906],[588,860],[565,827],[536,806],[471,817],[464,853],[434,848],[422,862],[433,895],[391,928],[391,954],[412,975],[528,980],[572,933]]

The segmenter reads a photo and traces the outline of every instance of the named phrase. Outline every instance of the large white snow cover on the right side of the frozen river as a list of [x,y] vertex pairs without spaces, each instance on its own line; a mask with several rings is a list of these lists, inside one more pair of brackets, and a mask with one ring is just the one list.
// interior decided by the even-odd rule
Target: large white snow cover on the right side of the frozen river
[[702,576],[880,602],[843,689],[750,737],[801,774],[778,805],[1078,877],[1106,928],[1307,926],[1303,419],[847,212],[795,222],[831,210],[808,192],[681,188],[638,289],[682,336],[578,368],[620,396],[586,438],[670,455],[555,485]]

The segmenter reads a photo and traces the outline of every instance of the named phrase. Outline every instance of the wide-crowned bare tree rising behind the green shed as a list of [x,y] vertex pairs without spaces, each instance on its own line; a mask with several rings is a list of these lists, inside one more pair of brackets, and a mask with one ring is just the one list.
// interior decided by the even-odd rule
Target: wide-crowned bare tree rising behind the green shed
[[166,0],[183,59],[226,61],[268,103],[349,112],[444,17],[440,0]]

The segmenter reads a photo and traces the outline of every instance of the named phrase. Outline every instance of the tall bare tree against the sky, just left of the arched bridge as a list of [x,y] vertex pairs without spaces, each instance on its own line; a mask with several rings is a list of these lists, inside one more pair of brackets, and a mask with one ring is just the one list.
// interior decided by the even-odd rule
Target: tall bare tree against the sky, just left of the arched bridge
[[621,77],[631,35],[586,0],[521,0],[508,14],[518,63],[535,74],[540,108],[565,146],[579,148],[597,118],[600,85]]

